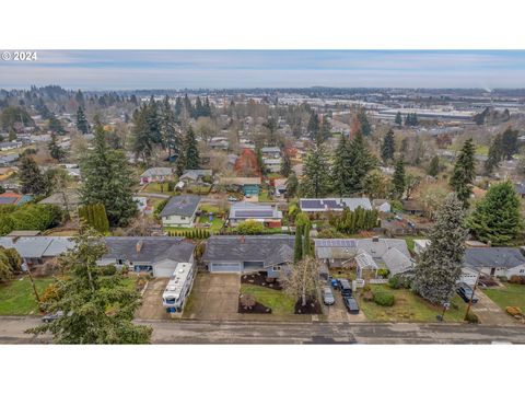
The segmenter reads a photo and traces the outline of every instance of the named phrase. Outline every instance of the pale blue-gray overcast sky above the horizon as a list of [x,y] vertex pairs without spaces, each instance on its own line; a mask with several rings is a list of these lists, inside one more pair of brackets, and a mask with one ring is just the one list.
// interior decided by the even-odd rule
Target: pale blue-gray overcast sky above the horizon
[[525,88],[525,51],[38,50],[0,88]]

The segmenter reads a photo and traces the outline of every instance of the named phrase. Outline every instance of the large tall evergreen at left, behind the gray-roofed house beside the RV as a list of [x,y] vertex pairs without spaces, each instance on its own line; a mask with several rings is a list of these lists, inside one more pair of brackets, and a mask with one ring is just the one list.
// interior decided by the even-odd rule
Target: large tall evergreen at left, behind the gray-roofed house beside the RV
[[126,155],[108,148],[102,126],[95,129],[93,148],[81,161],[81,201],[104,205],[110,225],[127,225],[137,215],[137,204],[132,199],[135,181]]

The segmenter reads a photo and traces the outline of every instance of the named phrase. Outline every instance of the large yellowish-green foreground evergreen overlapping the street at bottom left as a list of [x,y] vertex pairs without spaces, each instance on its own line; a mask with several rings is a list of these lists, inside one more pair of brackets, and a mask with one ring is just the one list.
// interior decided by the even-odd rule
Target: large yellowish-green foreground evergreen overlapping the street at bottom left
[[49,312],[62,311],[63,315],[31,333],[49,332],[56,344],[150,343],[151,327],[132,322],[140,293],[127,285],[121,273],[104,275],[96,262],[105,252],[98,234],[81,231],[74,247],[61,258],[68,275],[56,282],[60,296],[47,308]]

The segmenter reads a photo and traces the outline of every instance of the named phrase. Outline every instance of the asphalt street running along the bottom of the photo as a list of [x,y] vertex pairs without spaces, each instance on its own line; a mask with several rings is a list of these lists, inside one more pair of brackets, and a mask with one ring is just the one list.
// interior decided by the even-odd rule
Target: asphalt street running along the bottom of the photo
[[[383,323],[254,323],[137,321],[153,327],[154,344],[525,344],[525,326]],[[1,344],[45,344],[24,331],[38,317],[0,317]]]

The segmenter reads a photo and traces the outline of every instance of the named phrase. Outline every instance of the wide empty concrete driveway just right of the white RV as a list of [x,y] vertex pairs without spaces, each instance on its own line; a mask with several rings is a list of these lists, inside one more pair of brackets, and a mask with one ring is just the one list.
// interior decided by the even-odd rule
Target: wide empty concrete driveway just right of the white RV
[[240,289],[238,274],[198,273],[183,316],[213,321],[236,320]]

